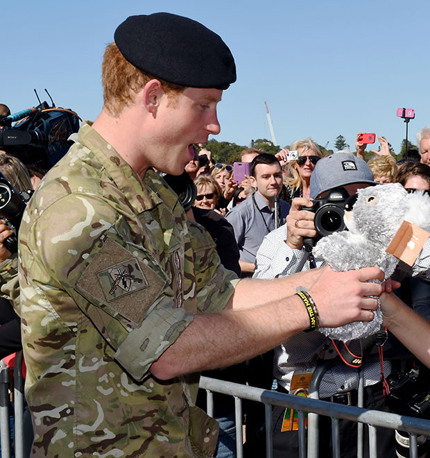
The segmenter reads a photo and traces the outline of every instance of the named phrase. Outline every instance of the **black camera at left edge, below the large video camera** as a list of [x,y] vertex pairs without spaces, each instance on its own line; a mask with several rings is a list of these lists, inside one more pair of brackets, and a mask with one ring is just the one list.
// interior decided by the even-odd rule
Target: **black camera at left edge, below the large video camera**
[[10,230],[14,232],[13,235],[3,241],[3,245],[8,248],[10,253],[15,253],[18,249],[19,225],[33,192],[33,189],[18,192],[6,176],[0,172],[0,218],[5,219]]

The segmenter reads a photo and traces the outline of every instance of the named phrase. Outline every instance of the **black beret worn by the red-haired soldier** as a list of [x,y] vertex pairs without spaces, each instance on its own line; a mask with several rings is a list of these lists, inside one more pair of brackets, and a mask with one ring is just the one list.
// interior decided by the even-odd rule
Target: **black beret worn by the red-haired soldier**
[[169,83],[227,89],[236,81],[236,65],[219,35],[188,17],[156,12],[130,16],[114,35],[132,65]]

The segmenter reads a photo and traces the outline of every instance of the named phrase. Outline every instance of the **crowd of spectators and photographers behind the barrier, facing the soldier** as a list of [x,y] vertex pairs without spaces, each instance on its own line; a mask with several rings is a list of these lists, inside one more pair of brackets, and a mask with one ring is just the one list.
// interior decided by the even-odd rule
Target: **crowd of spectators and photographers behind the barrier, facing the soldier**
[[[303,240],[306,237],[316,237],[315,227],[313,226],[312,212],[304,210],[312,206],[312,200],[318,198],[330,189],[343,187],[348,194],[356,193],[357,189],[375,184],[400,183],[407,192],[430,192],[430,168],[425,162],[424,152],[427,137],[425,132],[429,128],[420,130],[417,135],[418,144],[421,147],[422,155],[418,160],[401,160],[397,164],[396,159],[388,149],[388,142],[384,137],[378,137],[381,144],[380,151],[372,150],[373,157],[365,163],[363,145],[357,135],[356,153],[349,151],[339,151],[330,158],[322,158],[318,145],[312,139],[302,139],[289,147],[290,150],[298,150],[298,159],[288,161],[289,149],[282,149],[277,155],[269,158],[270,155],[264,151],[253,150],[251,174],[240,185],[235,185],[233,164],[212,164],[212,170],[208,167],[200,169],[197,178],[194,180],[197,186],[197,198],[194,205],[214,210],[225,216],[231,223],[232,230],[239,248],[240,276],[242,278],[253,276],[259,279],[273,279],[284,275],[291,275],[298,271],[312,269],[323,264],[322,260],[314,260],[311,253],[304,249]],[[423,142],[424,145],[421,143]],[[365,145],[364,145],[365,146]],[[248,151],[248,150],[246,150]],[[207,151],[206,151],[207,152]],[[321,160],[322,159],[322,160]],[[259,174],[255,176],[256,166],[261,163],[273,164],[273,173],[266,169],[261,169],[261,173],[266,173],[271,181],[270,186],[264,187],[259,182]],[[318,163],[318,165],[317,165]],[[352,171],[343,169],[343,164],[352,164]],[[190,162],[191,164],[191,162]],[[264,166],[266,167],[266,166]],[[187,168],[187,167],[186,167]],[[217,207],[217,203],[223,194],[216,185],[209,185],[210,173],[225,171],[224,180],[227,181],[227,189],[243,187],[247,189],[246,203],[231,203],[224,198],[223,207]],[[258,169],[257,169],[258,171]],[[311,184],[311,176],[316,173],[318,183],[325,183],[322,187]],[[314,176],[314,178],[316,178]],[[205,183],[206,186],[203,186]],[[225,189],[225,188],[224,188]],[[267,190],[273,191],[267,194]],[[208,195],[209,194],[209,195]],[[230,195],[232,191],[230,191]],[[280,200],[276,205],[280,205],[279,211],[281,219],[275,226],[275,211],[273,197],[277,196]],[[264,199],[264,200],[263,200]],[[288,205],[287,205],[288,203]],[[230,205],[230,207],[229,207]],[[263,213],[265,212],[265,213]],[[266,215],[266,220],[263,215]],[[424,269],[423,269],[424,270]],[[416,273],[415,273],[416,275]],[[418,312],[424,319],[430,319],[430,282],[418,276],[402,275],[402,285],[395,291],[397,296],[402,298],[411,309]],[[388,296],[387,300],[388,300]],[[399,305],[399,302],[390,296],[390,303]],[[422,323],[424,325],[424,323]],[[426,325],[424,325],[426,328]],[[391,341],[392,339],[390,339]],[[387,347],[390,346],[390,342]],[[394,348],[398,348],[393,345]],[[357,352],[360,350],[359,341],[353,341],[350,348]],[[377,346],[374,347],[377,351]],[[388,353],[389,354],[389,353]],[[282,393],[295,393],[298,387],[295,386],[294,376],[297,373],[312,373],[316,367],[316,362],[325,362],[327,359],[336,357],[337,353],[329,339],[318,332],[300,333],[289,341],[282,343],[282,346],[275,348],[275,354],[268,355],[265,366],[256,367],[256,372],[265,373],[272,370],[276,381],[277,390]],[[274,358],[274,359],[273,359]],[[424,358],[424,362],[428,358]],[[255,359],[248,362],[252,367]],[[386,388],[381,380],[381,373],[389,378],[391,373],[399,370],[397,363],[386,359],[383,362],[372,361],[363,364],[365,380],[365,400],[364,406],[372,409],[390,411],[390,406],[386,402]],[[424,371],[424,369],[423,369]],[[212,376],[222,378],[218,373]],[[252,378],[250,378],[252,380]],[[231,380],[231,379],[229,379]],[[259,384],[264,380],[265,384]],[[238,382],[243,382],[243,373],[237,378]],[[248,380],[249,382],[249,380]],[[267,378],[255,378],[253,384],[256,386],[270,389],[271,380]],[[309,387],[310,378],[307,382]],[[320,385],[320,398],[331,402],[341,402],[356,405],[357,388],[359,382],[359,371],[346,364],[336,364],[322,378]],[[300,391],[307,388],[300,384]],[[234,412],[230,412],[234,414]],[[255,415],[255,412],[248,412],[248,415]],[[274,407],[273,409],[273,446],[274,456],[284,456],[286,450],[289,456],[298,456],[298,434],[297,424],[291,425],[286,418],[286,409]],[[288,423],[288,424],[287,424]],[[329,432],[329,418],[322,418],[320,429]],[[231,426],[231,425],[230,425]],[[259,425],[261,427],[261,424]],[[343,456],[356,456],[356,440],[351,440],[356,434],[354,426],[350,422],[341,422],[342,450]],[[250,431],[252,438],[255,431]],[[230,432],[234,436],[234,433]],[[330,434],[321,434],[320,452],[322,456],[329,453],[331,443]],[[327,440],[325,440],[325,438]],[[225,440],[225,439],[223,439]],[[253,441],[252,441],[253,442]],[[234,443],[234,441],[232,441]],[[378,431],[378,443],[380,456],[388,456],[395,449],[394,434],[390,430]],[[253,443],[252,450],[256,450]],[[235,456],[234,451],[229,454],[219,456]]]

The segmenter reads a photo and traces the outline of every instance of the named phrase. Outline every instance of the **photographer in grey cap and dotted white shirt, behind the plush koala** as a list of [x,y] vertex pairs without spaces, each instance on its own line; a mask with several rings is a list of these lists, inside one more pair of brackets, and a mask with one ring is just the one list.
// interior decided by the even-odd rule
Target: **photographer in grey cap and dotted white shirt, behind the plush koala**
[[[348,153],[336,153],[322,158],[316,164],[310,181],[311,199],[322,200],[330,190],[341,187],[350,196],[357,189],[375,184],[368,165]],[[321,204],[324,201],[322,200]],[[314,226],[315,213],[305,207],[311,207],[312,201],[307,198],[294,198],[286,224],[266,236],[257,253],[254,278],[275,278],[304,271],[322,265],[322,260],[314,260],[304,248],[304,237],[316,237]],[[303,207],[303,208],[302,208]],[[356,345],[357,344],[357,345]],[[359,350],[357,341],[352,344]],[[356,347],[356,348],[355,348]],[[355,353],[359,354],[359,353]],[[274,375],[278,391],[294,392],[293,375],[312,373],[318,361],[332,359],[336,350],[329,339],[319,332],[296,335],[289,341],[275,348]],[[384,410],[384,396],[380,380],[379,362],[364,363],[365,407]],[[388,375],[390,365],[384,362],[384,371]],[[320,398],[348,405],[356,405],[358,369],[345,364],[338,364],[325,373],[320,384]],[[308,384],[309,387],[309,384]],[[298,432],[282,432],[285,409],[273,408],[273,448],[274,457],[298,455]],[[329,418],[320,417],[320,456],[329,456],[331,449],[329,439]],[[328,431],[327,431],[328,430]],[[355,426],[341,421],[341,452],[343,457],[356,457]],[[324,434],[327,432],[327,434]],[[390,430],[378,428],[379,456],[386,457],[393,451],[394,435]],[[367,438],[366,438],[367,439]],[[365,451],[368,452],[365,446]]]

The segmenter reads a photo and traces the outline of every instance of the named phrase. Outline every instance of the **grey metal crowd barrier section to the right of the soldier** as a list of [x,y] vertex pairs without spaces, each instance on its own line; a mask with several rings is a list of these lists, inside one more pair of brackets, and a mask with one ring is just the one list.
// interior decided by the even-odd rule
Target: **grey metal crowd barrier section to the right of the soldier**
[[[311,426],[311,414],[320,414],[332,417],[332,436],[333,436],[333,457],[340,456],[339,450],[339,430],[338,419],[354,421],[363,425],[367,424],[369,427],[369,447],[370,458],[377,457],[377,441],[376,441],[376,428],[387,427],[393,430],[406,432],[410,435],[409,441],[409,456],[411,458],[418,458],[418,443],[417,434],[430,436],[430,421],[422,420],[421,418],[413,418],[409,416],[402,416],[397,414],[390,414],[388,412],[380,412],[377,410],[362,409],[361,407],[353,407],[342,404],[334,404],[312,398],[302,398],[300,396],[292,396],[290,394],[278,393],[277,391],[268,391],[255,387],[248,387],[232,382],[225,382],[224,380],[217,380],[214,378],[201,377],[200,388],[207,391],[207,414],[213,414],[213,396],[212,393],[223,393],[234,397],[234,404],[236,407],[236,456],[243,458],[243,436],[242,436],[242,413],[241,413],[241,400],[248,399],[257,402],[263,402],[266,412],[266,457],[273,458],[273,444],[272,444],[272,405],[279,405],[282,407],[291,407],[298,411],[299,422],[299,456],[300,458],[317,458],[318,435],[315,436],[315,430],[309,432],[308,448],[306,446],[305,428],[304,428],[304,414],[309,412],[309,427]],[[318,432],[318,426],[316,426]],[[394,431],[393,431],[394,434]],[[359,450],[360,453],[360,450]]]

